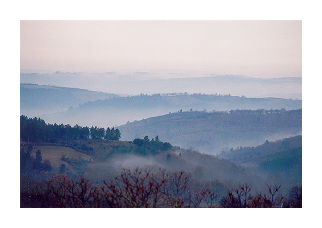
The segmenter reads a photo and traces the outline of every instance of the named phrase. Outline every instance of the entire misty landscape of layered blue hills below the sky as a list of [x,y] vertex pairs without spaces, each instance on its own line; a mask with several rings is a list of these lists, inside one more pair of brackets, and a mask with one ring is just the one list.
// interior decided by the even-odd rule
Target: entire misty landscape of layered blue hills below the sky
[[[51,82],[72,83],[69,74]],[[141,78],[130,88],[123,75],[98,91],[48,78],[21,74],[21,208],[302,207],[299,78]],[[196,83],[205,93],[189,90]],[[222,83],[264,94],[220,94]],[[173,92],[180,84],[188,92]],[[295,89],[264,96],[287,84]]]

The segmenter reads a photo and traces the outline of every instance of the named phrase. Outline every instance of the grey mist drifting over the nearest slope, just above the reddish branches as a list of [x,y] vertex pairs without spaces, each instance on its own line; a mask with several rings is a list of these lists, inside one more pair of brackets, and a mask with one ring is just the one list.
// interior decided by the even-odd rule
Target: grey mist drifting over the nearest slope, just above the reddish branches
[[[139,168],[143,172],[149,170],[153,173],[160,169],[166,172],[185,171],[190,178],[199,182],[215,181],[228,188],[237,188],[241,184],[248,183],[253,186],[253,192],[265,192],[267,184],[276,184],[276,181],[280,180],[267,175],[260,176],[255,170],[245,169],[228,160],[190,150],[173,151],[170,154],[171,161],[167,161],[167,154],[156,156],[114,154],[105,162],[89,164],[90,171],[86,173],[86,177],[99,183],[120,174],[123,169],[133,171]],[[291,180],[285,180],[282,191],[285,190],[286,193],[293,184]]]

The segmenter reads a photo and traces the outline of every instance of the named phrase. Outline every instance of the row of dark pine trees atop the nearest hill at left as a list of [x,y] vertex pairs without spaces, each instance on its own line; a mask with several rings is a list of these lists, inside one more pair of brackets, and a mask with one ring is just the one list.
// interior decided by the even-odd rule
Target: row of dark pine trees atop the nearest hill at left
[[28,118],[20,115],[20,139],[25,142],[34,143],[56,143],[59,140],[73,141],[76,139],[107,139],[119,140],[121,132],[119,129],[105,130],[104,127],[81,127],[76,124],[72,127],[70,124],[46,124],[43,119],[34,117]]

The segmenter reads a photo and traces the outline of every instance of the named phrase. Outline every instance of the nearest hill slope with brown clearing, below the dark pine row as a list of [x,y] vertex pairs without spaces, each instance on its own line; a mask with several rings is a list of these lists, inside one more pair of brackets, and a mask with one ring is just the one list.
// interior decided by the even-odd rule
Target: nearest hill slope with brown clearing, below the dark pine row
[[[49,176],[57,174],[62,164],[65,164],[69,176],[82,174],[94,182],[116,175],[123,168],[133,170],[139,167],[157,171],[161,167],[168,171],[185,171],[198,181],[217,181],[227,187],[237,187],[240,182],[248,182],[254,183],[258,190],[265,189],[260,176],[226,159],[172,146],[154,152],[155,143],[157,141],[152,140],[136,145],[135,141],[88,139],[60,142],[58,145],[36,144],[32,146],[31,156],[35,157],[36,151],[40,150],[42,159],[48,160],[52,166],[52,170],[47,173]],[[30,145],[22,142],[20,146],[27,151]]]

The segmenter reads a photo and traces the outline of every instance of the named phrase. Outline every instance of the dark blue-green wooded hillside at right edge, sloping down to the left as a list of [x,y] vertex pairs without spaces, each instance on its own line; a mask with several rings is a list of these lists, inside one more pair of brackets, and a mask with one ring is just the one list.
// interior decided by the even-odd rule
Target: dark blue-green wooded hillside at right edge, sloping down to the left
[[275,178],[284,186],[302,185],[302,136],[266,141],[257,147],[231,148],[219,156],[263,177]]

